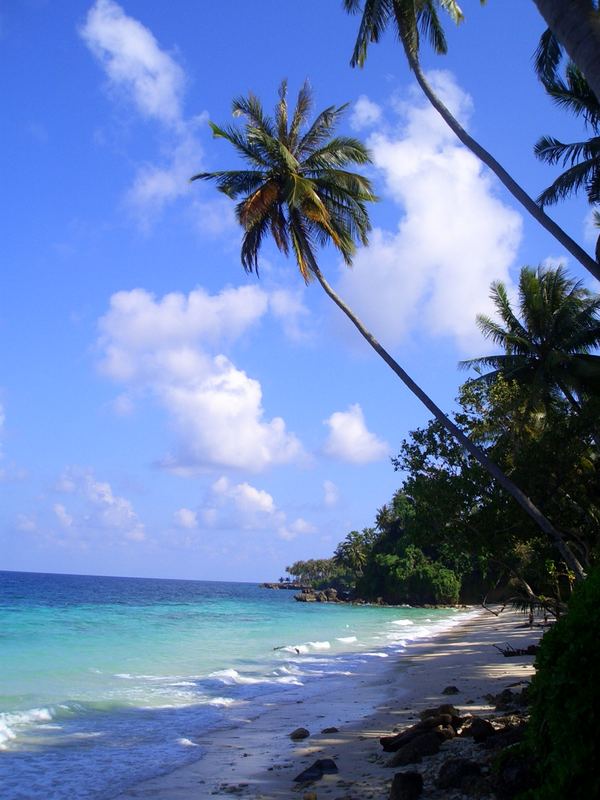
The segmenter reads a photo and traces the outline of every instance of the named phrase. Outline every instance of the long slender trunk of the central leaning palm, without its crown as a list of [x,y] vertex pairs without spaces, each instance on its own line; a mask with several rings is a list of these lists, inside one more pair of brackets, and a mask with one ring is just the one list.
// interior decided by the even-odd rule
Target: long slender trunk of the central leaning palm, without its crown
[[391,355],[385,350],[377,341],[377,339],[370,333],[362,322],[355,316],[352,310],[344,303],[344,301],[335,293],[335,291],[331,288],[325,277],[323,276],[320,269],[313,267],[313,272],[321,286],[323,287],[324,291],[327,295],[333,300],[333,302],[340,308],[344,314],[348,317],[350,322],[358,329],[360,334],[366,339],[366,341],[371,345],[373,350],[381,356],[381,358],[385,361],[385,363],[391,367],[391,369],[396,373],[396,375],[400,378],[400,380],[410,389],[410,391],[416,395],[419,400],[426,406],[426,408],[431,411],[433,416],[437,419],[439,423],[441,423],[450,433],[458,439],[460,444],[465,448],[465,450],[476,458],[477,461],[481,464],[481,466],[487,470],[490,475],[495,478],[498,483],[517,501],[517,503],[524,509],[524,511],[529,514],[529,516],[533,519],[533,521],[541,528],[541,530],[552,540],[554,545],[556,546],[557,550],[561,554],[562,558],[564,559],[565,563],[567,564],[568,568],[571,569],[577,579],[585,578],[585,571],[582,565],[579,563],[577,557],[571,552],[568,544],[565,542],[563,536],[556,528],[552,525],[550,520],[546,519],[546,517],[542,514],[542,512],[537,508],[534,503],[527,497],[527,495],[519,489],[519,487],[514,484],[510,478],[508,478],[502,470],[494,464],[493,461],[485,455],[485,453],[480,450],[473,442],[465,436],[465,434],[461,431],[461,429],[452,422],[452,420],[447,417],[444,412],[436,406],[433,400],[425,394],[425,392],[418,386],[413,379],[406,373],[402,367],[391,357]]

